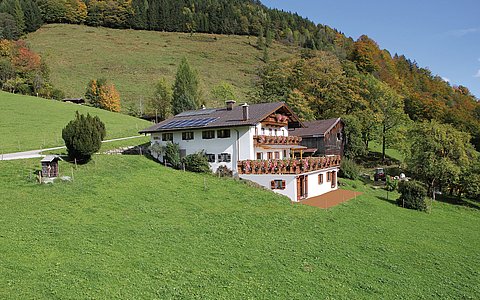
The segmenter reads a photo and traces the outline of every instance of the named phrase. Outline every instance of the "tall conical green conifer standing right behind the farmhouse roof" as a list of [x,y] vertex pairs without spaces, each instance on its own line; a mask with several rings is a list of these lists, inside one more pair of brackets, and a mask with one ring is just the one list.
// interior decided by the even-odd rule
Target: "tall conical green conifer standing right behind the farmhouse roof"
[[177,115],[186,110],[194,110],[200,104],[199,79],[184,57],[178,66],[173,86],[172,110]]

